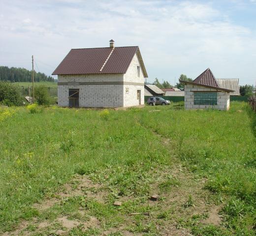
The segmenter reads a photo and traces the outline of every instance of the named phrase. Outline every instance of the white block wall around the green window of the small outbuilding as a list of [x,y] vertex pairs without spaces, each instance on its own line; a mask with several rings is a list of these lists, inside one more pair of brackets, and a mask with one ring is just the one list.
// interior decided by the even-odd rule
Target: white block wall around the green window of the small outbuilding
[[[229,92],[218,91],[218,89],[210,89],[202,86],[196,85],[185,85],[185,109],[207,109],[213,108],[218,110],[229,110]],[[217,91],[217,105],[194,105],[194,91]]]

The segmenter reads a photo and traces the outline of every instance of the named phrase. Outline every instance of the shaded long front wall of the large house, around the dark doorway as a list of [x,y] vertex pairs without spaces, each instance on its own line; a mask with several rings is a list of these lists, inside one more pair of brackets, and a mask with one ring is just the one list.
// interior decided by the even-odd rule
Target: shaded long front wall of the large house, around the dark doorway
[[[123,74],[58,75],[58,104],[67,107],[68,90],[79,89],[80,107],[123,107],[124,85],[120,84],[123,83],[123,78]],[[119,85],[108,85],[104,82],[117,82]]]

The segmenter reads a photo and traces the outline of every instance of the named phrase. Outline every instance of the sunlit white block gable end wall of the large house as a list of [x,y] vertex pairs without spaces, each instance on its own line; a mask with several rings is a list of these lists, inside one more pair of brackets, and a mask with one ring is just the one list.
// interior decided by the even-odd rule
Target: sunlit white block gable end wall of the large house
[[[137,54],[135,54],[126,74],[124,74],[124,107],[139,105],[137,90],[141,90],[141,105],[144,104],[144,76],[140,66],[140,76],[138,77],[137,66],[140,66],[140,63]],[[133,83],[136,83],[136,85]]]

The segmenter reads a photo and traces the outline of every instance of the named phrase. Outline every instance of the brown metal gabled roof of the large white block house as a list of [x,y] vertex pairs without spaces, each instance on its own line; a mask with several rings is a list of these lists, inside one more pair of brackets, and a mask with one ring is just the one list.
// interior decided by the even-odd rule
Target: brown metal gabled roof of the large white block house
[[147,78],[138,46],[71,49],[52,74],[125,74],[135,54],[143,75]]

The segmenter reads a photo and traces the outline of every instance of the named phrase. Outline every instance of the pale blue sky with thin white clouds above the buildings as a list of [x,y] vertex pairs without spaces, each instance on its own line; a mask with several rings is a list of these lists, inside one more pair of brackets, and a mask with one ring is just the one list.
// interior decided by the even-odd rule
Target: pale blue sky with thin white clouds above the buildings
[[153,82],[256,83],[256,0],[0,0],[0,65],[51,75],[71,48],[139,46]]

